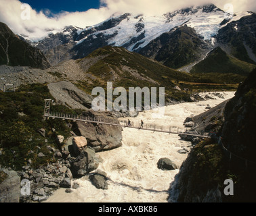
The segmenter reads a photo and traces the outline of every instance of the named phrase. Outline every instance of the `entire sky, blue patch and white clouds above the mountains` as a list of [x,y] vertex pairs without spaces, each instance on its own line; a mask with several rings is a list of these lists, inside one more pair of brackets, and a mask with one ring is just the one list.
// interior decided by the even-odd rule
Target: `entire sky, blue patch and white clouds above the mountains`
[[161,16],[175,9],[206,3],[214,3],[224,11],[230,3],[234,12],[256,12],[255,0],[0,0],[0,22],[16,34],[36,39],[46,36],[49,30],[69,25],[93,26],[116,13]]

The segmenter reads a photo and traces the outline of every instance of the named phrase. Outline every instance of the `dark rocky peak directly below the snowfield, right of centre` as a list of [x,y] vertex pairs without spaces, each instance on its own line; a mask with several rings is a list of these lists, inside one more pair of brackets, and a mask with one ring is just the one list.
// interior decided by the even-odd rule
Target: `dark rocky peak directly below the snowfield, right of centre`
[[210,43],[196,34],[194,28],[185,24],[161,34],[143,47],[140,54],[177,69],[202,59],[211,47]]

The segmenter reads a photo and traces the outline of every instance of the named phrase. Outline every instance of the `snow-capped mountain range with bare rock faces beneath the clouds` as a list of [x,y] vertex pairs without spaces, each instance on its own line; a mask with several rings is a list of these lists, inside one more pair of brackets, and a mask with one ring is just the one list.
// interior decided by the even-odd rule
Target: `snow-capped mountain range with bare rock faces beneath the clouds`
[[251,13],[238,14],[232,20],[226,21],[225,25],[221,25],[226,14],[212,4],[188,7],[163,16],[114,14],[95,26],[86,28],[67,26],[59,32],[52,32],[40,41],[34,41],[33,45],[41,49],[53,65],[64,59],[81,59],[106,45],[140,52],[165,32],[185,25],[194,28],[202,40],[214,45],[215,36],[220,28],[248,15]]

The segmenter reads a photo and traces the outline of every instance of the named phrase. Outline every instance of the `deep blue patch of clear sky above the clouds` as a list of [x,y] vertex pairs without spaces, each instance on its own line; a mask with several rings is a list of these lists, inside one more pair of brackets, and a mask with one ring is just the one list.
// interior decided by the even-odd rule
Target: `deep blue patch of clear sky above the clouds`
[[100,1],[84,1],[84,0],[23,0],[22,3],[28,3],[33,9],[37,11],[50,10],[54,14],[60,11],[87,11],[88,9],[98,9]]

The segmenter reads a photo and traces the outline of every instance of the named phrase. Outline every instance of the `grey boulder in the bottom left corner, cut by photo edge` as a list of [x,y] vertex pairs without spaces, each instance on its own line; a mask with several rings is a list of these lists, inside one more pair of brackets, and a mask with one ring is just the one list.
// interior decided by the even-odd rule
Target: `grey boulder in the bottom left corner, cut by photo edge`
[[13,170],[0,170],[7,178],[0,184],[0,202],[20,201],[20,177]]

